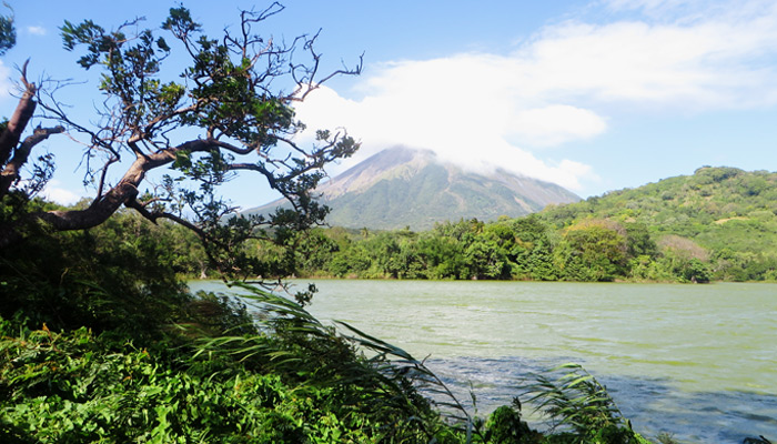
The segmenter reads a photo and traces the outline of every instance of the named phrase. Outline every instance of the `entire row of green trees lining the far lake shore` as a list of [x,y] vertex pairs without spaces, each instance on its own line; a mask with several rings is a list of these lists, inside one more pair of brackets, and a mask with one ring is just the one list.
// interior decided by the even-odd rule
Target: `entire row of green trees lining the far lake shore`
[[[777,258],[743,251],[734,241],[709,248],[695,239],[659,232],[639,221],[588,216],[556,221],[552,212],[441,222],[414,232],[314,228],[283,242],[251,239],[232,251],[261,264],[243,279],[295,276],[407,280],[517,280],[577,282],[775,281]],[[736,221],[728,239],[745,236],[758,221]],[[128,211],[108,222],[107,242],[154,242],[170,266],[190,279],[216,278],[218,270],[190,231],[173,223],[143,223]],[[763,228],[761,228],[763,229]],[[141,234],[142,233],[142,234]],[[734,233],[734,234],[731,234]],[[702,239],[705,239],[702,236]],[[287,275],[286,275],[287,276]]]

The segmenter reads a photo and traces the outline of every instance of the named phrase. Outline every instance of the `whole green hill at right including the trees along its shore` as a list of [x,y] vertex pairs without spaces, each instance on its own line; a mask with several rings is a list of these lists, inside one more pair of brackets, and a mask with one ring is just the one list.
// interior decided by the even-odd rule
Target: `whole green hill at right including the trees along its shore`
[[[395,279],[777,280],[777,173],[702,168],[516,219],[322,232],[307,274]],[[321,246],[324,246],[323,250]]]

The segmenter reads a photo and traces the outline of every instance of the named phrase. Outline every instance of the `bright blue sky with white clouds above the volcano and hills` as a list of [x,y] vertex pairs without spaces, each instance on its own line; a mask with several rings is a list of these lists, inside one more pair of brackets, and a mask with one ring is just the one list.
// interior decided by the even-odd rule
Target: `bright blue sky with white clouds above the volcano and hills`
[[[90,79],[62,50],[63,20],[111,28],[160,23],[178,2],[11,1],[18,46],[0,87],[30,58],[32,78]],[[188,1],[215,34],[253,2]],[[268,3],[255,3],[262,8]],[[476,171],[495,167],[581,196],[690,174],[702,165],[777,170],[777,2],[773,0],[293,1],[266,34],[322,29],[325,68],[353,64],[297,108],[310,128],[346,128],[361,152],[334,175],[396,144],[431,149]],[[88,117],[91,85],[62,90]],[[0,97],[9,115],[14,100]],[[77,145],[46,148],[60,164],[49,195],[88,195]],[[251,178],[259,180],[259,178]],[[244,208],[273,195],[243,179]],[[245,191],[251,190],[251,191]],[[258,191],[260,190],[260,191]]]

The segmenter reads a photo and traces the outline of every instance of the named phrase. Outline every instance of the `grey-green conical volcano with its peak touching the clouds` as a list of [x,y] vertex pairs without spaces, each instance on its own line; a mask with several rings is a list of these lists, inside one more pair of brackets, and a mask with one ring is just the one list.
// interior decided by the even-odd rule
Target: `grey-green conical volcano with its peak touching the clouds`
[[[537,212],[578,196],[553,183],[504,170],[483,175],[441,162],[432,151],[393,148],[359,163],[316,191],[332,212],[331,225],[428,230],[436,222],[496,220]],[[272,211],[282,202],[248,210]]]

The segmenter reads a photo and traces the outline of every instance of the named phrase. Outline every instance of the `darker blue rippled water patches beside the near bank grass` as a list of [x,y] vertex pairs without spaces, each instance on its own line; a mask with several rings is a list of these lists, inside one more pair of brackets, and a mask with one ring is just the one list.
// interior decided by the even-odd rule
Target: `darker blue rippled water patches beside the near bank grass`
[[[524,357],[455,357],[427,365],[450,385],[460,401],[485,415],[511,404],[529,373],[565,360]],[[668,433],[682,443],[741,443],[745,437],[777,437],[777,395],[744,391],[685,392],[668,379],[596,375],[634,428],[646,437]],[[472,405],[471,394],[476,398]],[[528,417],[542,428],[541,418]]]

